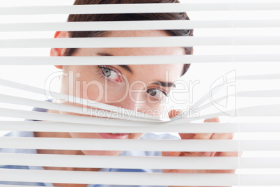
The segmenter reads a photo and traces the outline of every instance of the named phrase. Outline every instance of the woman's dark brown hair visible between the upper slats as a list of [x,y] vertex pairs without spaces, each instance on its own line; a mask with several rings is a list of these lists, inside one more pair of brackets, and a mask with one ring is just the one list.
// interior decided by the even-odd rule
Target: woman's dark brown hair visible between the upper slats
[[[85,4],[121,4],[121,3],[180,3],[178,0],[76,0],[74,5]],[[106,22],[106,21],[136,21],[136,20],[189,20],[187,13],[135,13],[135,14],[84,14],[69,15],[68,22]],[[194,36],[193,29],[165,30],[171,36]],[[70,38],[102,37],[109,31],[70,31]],[[64,56],[72,56],[77,48],[68,48]],[[185,47],[186,54],[193,53],[193,47]],[[190,64],[184,64],[182,75]]]

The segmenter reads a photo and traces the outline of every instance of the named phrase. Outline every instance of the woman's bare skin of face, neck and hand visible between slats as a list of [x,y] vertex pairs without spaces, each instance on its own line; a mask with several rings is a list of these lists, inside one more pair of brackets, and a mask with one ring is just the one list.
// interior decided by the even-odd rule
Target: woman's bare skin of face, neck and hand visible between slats
[[[141,36],[169,36],[164,31],[111,31],[109,37],[141,37]],[[55,38],[67,38],[67,32],[56,32]],[[63,56],[65,49],[52,49],[51,56],[59,57]],[[185,50],[182,47],[157,47],[157,48],[90,48],[79,49],[74,56],[140,56],[140,55],[183,55]],[[74,82],[69,82],[67,77],[63,77],[61,82],[61,93],[72,94],[77,97],[86,98],[89,100],[97,100],[100,103],[106,103],[117,107],[123,107],[130,110],[137,110],[139,112],[146,113],[147,110],[159,110],[163,111],[165,105],[166,96],[164,93],[169,93],[173,87],[163,87],[153,82],[176,82],[182,73],[182,64],[165,64],[165,65],[129,65],[133,73],[125,70],[120,66],[56,66],[56,68],[62,69],[65,73],[73,72],[74,75],[80,75],[74,77]],[[104,72],[111,68],[118,72],[114,74],[111,70],[110,75],[104,78]],[[104,71],[103,71],[104,70]],[[168,77],[166,78],[166,71]],[[78,73],[78,74],[76,74]],[[118,75],[121,75],[120,77]],[[106,76],[105,76],[106,77]],[[108,82],[109,79],[109,82]],[[76,83],[79,82],[83,85],[83,81],[97,81],[104,87],[106,84],[108,94],[100,95],[100,89],[95,84],[89,87],[78,87]],[[134,82],[139,82],[134,84]],[[71,85],[73,85],[71,87]],[[131,94],[125,96],[127,85],[131,87],[128,90]],[[133,85],[133,86],[132,86]],[[74,90],[74,91],[71,91]],[[157,97],[147,93],[148,89],[157,91]],[[105,100],[107,96],[107,100]],[[54,102],[59,103],[58,100]],[[65,103],[66,105],[75,105],[81,107],[81,105],[73,103]],[[85,107],[85,106],[84,106]],[[48,110],[47,112],[58,114],[71,114],[68,112]],[[172,110],[169,112],[169,117],[174,117],[180,112],[178,110]],[[82,115],[82,114],[75,114]],[[219,121],[216,119],[207,119],[205,122]],[[130,133],[125,137],[126,139],[138,139],[141,137],[140,133]],[[98,133],[36,133],[36,137],[73,137],[73,138],[103,138]],[[180,134],[182,139],[232,139],[233,134]],[[117,156],[121,151],[62,151],[62,150],[38,150],[38,154],[86,154],[86,155],[111,155]],[[202,152],[162,152],[162,156],[237,156],[237,153],[202,153]],[[45,167],[46,170],[100,170],[96,168],[58,168],[58,167]],[[176,173],[198,173],[198,172],[235,172],[234,170],[164,170],[164,172]],[[72,184],[54,184],[54,186],[86,186],[86,185],[72,185]]]

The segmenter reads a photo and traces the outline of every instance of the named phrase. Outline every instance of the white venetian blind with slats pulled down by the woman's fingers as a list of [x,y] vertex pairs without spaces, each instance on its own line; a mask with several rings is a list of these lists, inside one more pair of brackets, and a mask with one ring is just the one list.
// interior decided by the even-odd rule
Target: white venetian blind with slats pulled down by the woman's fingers
[[[2,3],[2,2],[0,2]],[[124,13],[181,13],[190,20],[180,21],[122,21],[122,22],[17,22],[26,18],[68,14],[124,14]],[[194,70],[205,73],[203,67],[224,67],[215,74],[215,82],[208,82],[199,98],[189,104],[188,115],[158,119],[132,110],[68,96],[59,91],[36,87],[32,82],[0,79],[0,130],[23,132],[70,133],[236,133],[233,140],[115,140],[51,137],[0,137],[0,148],[97,150],[97,151],[188,151],[238,152],[239,156],[86,156],[60,154],[24,154],[1,152],[1,165],[32,167],[125,168],[153,170],[237,170],[235,173],[162,173],[162,172],[87,172],[65,170],[0,169],[0,181],[52,184],[104,184],[119,186],[280,186],[280,60],[279,35],[280,1],[181,1],[181,3],[139,3],[110,5],[63,5],[0,7],[0,32],[13,37],[0,40],[0,64],[4,68],[49,65],[125,65],[192,63]],[[212,15],[214,18],[212,18]],[[203,19],[192,20],[193,17]],[[228,17],[227,20],[223,18]],[[242,17],[238,17],[242,15]],[[257,15],[253,17],[252,15]],[[258,16],[259,15],[259,16]],[[263,16],[260,16],[263,15]],[[5,17],[10,17],[11,22]],[[217,18],[218,17],[218,18]],[[1,19],[1,18],[0,18]],[[46,18],[47,20],[47,18]],[[130,31],[194,29],[194,36],[166,37],[98,37],[43,38],[33,33],[46,31]],[[217,32],[215,31],[223,31]],[[197,34],[196,34],[197,32]],[[21,35],[22,33],[22,35]],[[24,36],[26,35],[26,36]],[[24,37],[22,37],[24,36]],[[47,57],[36,50],[49,48],[94,47],[194,47],[194,55],[182,56],[123,56],[123,57]],[[13,53],[22,50],[26,54]],[[196,53],[196,51],[198,51]],[[7,55],[8,54],[8,55]],[[22,54],[22,55],[19,55]],[[195,68],[199,67],[199,68]],[[263,68],[258,73],[254,68]],[[255,71],[254,71],[255,70]],[[192,68],[185,75],[193,75]],[[10,72],[13,74],[13,72]],[[15,73],[16,74],[16,73]],[[39,73],[40,74],[40,73]],[[28,75],[26,75],[28,76]],[[215,77],[215,76],[214,76]],[[36,78],[35,78],[36,79]],[[231,87],[229,87],[231,86]],[[233,87],[234,86],[234,87]],[[49,88],[49,87],[48,87]],[[234,88],[234,89],[232,89]],[[6,90],[12,90],[9,94]],[[225,95],[219,95],[226,89]],[[18,91],[18,92],[17,92]],[[24,94],[21,94],[24,93]],[[36,99],[44,98],[44,99]],[[181,96],[184,97],[184,96]],[[44,101],[56,98],[116,111],[102,117],[52,114],[20,109],[38,107],[75,114],[92,115],[82,107]],[[227,105],[221,105],[226,102]],[[5,107],[5,106],[8,107]],[[187,105],[182,103],[182,105]],[[192,116],[192,111],[199,116]],[[128,114],[130,119],[127,120]],[[96,114],[98,115],[98,114]],[[101,117],[101,116],[100,116]],[[221,123],[203,123],[203,119],[220,117]],[[40,121],[24,121],[33,119]],[[243,136],[242,136],[243,135]],[[241,153],[243,152],[242,156]],[[63,186],[63,185],[61,185]]]

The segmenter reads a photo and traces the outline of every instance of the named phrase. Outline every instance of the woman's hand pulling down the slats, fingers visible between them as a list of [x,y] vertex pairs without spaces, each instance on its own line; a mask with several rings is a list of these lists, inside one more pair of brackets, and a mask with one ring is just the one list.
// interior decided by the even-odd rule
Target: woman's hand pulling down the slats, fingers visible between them
[[[172,110],[169,117],[175,117],[179,111]],[[219,122],[219,118],[206,119],[204,122]],[[182,140],[232,140],[233,133],[179,133]],[[238,152],[162,152],[162,156],[238,156]],[[235,170],[162,170],[164,173],[235,173]],[[170,186],[171,187],[171,186]]]

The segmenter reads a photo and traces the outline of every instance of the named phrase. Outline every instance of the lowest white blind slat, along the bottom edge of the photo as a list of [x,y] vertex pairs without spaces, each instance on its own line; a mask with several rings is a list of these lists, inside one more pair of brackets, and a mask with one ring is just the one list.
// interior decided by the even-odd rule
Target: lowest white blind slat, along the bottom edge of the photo
[[0,169],[0,176],[0,179],[4,181],[41,181],[70,184],[150,186],[234,186],[238,184],[273,186],[280,184],[277,174],[157,174]]

